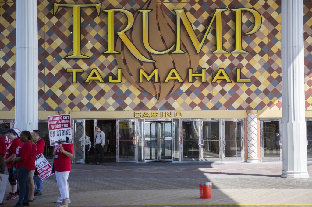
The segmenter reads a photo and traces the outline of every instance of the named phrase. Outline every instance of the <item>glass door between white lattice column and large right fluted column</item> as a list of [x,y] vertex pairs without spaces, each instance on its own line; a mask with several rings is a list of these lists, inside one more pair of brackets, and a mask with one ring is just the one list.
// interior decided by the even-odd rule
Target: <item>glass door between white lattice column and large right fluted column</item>
[[280,119],[261,119],[261,161],[282,161]]

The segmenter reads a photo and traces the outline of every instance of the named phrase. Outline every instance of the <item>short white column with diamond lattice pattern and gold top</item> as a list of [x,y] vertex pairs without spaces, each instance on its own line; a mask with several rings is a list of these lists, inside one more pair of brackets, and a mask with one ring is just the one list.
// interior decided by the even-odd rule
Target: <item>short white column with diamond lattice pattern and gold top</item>
[[258,127],[257,110],[247,111],[247,140],[248,140],[248,158],[247,163],[258,162]]

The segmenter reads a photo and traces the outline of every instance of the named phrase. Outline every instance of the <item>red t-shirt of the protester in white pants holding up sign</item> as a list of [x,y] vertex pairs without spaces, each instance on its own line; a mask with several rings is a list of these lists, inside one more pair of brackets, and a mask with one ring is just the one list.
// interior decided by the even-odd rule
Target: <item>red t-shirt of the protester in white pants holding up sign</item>
[[[62,145],[66,152],[73,154],[73,144]],[[54,156],[53,163],[54,169],[57,172],[71,171],[71,158],[67,157],[64,153],[60,152],[60,145],[56,145],[54,148],[56,155]]]

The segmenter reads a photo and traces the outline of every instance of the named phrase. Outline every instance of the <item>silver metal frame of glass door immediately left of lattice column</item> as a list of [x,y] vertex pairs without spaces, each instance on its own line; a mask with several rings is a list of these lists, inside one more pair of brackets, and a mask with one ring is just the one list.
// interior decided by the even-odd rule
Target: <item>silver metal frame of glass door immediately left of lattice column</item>
[[[222,125],[222,162],[245,162],[245,119],[226,118],[220,120]],[[225,157],[225,122],[241,122],[241,157]]]

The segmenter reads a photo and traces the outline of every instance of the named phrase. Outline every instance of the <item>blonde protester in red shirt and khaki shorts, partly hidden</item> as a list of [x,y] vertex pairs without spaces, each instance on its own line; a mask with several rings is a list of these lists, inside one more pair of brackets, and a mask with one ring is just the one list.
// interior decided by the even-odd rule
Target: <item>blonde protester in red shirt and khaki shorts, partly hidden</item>
[[29,177],[28,177],[28,185],[29,185],[28,201],[29,202],[35,200],[34,198],[34,191],[35,191],[34,174],[36,170],[35,160],[37,156],[37,147],[35,143],[38,140],[38,135],[35,132],[32,132],[30,134],[32,136],[32,139],[30,140],[30,143],[32,144],[32,171],[30,171]]

